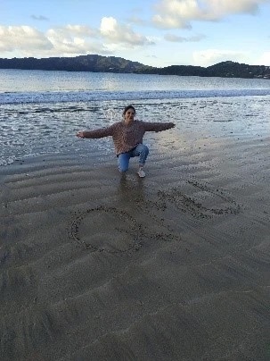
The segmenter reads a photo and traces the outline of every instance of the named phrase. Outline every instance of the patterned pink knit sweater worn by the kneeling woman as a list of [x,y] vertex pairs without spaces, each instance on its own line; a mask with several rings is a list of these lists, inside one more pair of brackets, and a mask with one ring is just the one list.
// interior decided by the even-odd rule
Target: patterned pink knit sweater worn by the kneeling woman
[[133,121],[131,124],[125,122],[116,122],[110,127],[98,130],[85,130],[84,138],[104,138],[112,137],[115,152],[117,155],[126,153],[143,143],[143,135],[145,131],[161,131],[173,128],[173,122],[142,122]]

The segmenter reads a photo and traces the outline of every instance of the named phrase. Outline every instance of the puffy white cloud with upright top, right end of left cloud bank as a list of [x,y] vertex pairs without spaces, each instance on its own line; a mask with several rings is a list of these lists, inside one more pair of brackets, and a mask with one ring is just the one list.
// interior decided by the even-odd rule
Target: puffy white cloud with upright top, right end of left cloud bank
[[100,32],[102,38],[110,44],[122,44],[128,47],[151,45],[152,42],[143,35],[135,33],[125,24],[119,24],[112,17],[103,17]]

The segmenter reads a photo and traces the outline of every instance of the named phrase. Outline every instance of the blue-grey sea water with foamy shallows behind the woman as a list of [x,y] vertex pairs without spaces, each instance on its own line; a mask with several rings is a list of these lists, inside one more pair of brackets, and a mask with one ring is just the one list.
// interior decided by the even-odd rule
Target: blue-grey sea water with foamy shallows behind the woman
[[111,153],[111,139],[86,145],[76,133],[121,120],[128,104],[137,119],[175,122],[185,137],[254,137],[269,129],[270,80],[0,70],[0,165],[91,147]]

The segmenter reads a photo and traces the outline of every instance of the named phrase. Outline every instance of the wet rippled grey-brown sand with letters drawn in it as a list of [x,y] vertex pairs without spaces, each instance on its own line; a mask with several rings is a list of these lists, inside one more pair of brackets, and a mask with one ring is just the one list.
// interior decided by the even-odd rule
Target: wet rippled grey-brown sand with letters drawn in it
[[1,361],[269,360],[269,140],[2,167]]

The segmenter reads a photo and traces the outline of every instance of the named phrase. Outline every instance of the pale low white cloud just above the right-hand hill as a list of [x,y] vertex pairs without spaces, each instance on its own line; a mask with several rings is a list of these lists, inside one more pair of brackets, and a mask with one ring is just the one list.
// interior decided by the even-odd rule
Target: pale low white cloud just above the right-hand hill
[[236,52],[231,50],[208,49],[193,53],[194,63],[200,66],[209,66],[225,61],[245,62],[247,54],[244,52]]

